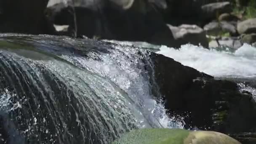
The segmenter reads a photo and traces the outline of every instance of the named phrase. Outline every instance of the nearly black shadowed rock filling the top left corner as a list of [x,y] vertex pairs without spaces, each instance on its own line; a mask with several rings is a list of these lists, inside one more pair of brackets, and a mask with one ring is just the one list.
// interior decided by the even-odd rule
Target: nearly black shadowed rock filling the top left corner
[[54,34],[44,15],[48,0],[1,0],[0,32]]

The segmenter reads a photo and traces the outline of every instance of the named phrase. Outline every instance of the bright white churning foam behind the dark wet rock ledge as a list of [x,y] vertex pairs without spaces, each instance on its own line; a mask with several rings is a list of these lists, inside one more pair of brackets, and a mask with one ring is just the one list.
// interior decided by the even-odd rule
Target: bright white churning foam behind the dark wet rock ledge
[[157,53],[215,77],[256,77],[256,48],[248,44],[235,52],[187,44],[179,50],[162,46]]

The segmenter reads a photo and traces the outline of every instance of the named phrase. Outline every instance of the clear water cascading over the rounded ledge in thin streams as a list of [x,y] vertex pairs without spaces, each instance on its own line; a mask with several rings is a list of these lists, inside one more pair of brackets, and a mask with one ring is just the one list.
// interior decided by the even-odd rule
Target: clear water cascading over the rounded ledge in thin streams
[[134,128],[183,128],[153,99],[145,64],[139,48],[1,35],[0,139],[108,144]]

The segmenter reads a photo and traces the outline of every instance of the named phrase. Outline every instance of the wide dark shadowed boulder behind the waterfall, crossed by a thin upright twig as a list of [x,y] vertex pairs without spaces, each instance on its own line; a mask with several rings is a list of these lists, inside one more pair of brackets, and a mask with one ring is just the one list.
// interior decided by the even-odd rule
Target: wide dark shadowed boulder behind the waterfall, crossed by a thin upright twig
[[[135,0],[131,8],[122,10],[112,5],[75,7],[77,36],[97,39],[145,41],[157,45],[179,47],[160,13],[147,1]],[[69,36],[75,31],[72,7],[57,3],[48,8],[54,24],[70,25]]]

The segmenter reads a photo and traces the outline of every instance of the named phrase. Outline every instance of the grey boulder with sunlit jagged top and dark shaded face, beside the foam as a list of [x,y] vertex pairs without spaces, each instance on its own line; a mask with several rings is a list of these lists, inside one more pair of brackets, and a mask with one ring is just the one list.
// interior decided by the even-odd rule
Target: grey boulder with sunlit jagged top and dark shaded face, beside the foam
[[203,45],[208,48],[208,40],[205,32],[197,25],[182,24],[179,27],[173,27],[167,24],[173,33],[173,37],[180,44],[191,43],[193,45]]

